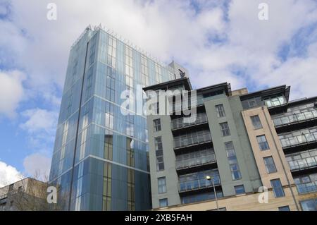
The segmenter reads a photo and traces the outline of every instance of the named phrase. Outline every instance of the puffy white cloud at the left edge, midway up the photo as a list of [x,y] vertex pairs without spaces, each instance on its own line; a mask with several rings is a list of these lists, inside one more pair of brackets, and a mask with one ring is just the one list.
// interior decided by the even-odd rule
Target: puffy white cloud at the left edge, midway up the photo
[[20,71],[0,71],[0,115],[15,116],[15,110],[23,99],[23,80]]

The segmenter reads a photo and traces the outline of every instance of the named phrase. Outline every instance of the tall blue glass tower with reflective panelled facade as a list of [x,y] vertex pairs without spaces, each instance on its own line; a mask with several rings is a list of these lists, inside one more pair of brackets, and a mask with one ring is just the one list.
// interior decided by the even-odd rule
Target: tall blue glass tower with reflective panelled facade
[[145,102],[137,85],[175,79],[175,71],[102,28],[82,33],[70,49],[49,177],[58,208],[151,208],[146,117],[122,114],[120,95],[131,90],[130,101]]

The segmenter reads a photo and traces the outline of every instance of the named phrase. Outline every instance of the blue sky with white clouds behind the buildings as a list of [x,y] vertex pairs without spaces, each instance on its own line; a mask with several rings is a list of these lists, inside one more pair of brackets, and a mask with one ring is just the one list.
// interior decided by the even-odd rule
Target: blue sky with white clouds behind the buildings
[[185,66],[194,87],[317,95],[315,0],[0,0],[0,187],[49,174],[70,46],[99,24]]

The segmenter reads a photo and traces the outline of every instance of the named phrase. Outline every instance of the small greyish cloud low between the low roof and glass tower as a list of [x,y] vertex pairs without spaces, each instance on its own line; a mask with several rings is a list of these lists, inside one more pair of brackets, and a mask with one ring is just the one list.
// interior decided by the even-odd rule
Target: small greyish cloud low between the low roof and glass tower
[[51,158],[39,152],[30,154],[23,161],[25,173],[41,181],[47,181],[51,168]]

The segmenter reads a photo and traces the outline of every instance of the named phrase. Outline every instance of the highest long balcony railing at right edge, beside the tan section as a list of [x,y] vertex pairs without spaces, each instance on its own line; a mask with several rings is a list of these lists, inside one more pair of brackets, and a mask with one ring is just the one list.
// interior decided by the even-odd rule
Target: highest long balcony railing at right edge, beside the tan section
[[278,127],[278,126],[289,125],[292,123],[299,123],[302,121],[309,121],[316,118],[317,118],[317,110],[314,109],[313,111],[305,111],[299,114],[292,114],[289,116],[274,118],[273,122],[274,122],[274,125]]

